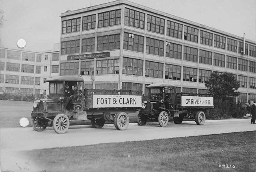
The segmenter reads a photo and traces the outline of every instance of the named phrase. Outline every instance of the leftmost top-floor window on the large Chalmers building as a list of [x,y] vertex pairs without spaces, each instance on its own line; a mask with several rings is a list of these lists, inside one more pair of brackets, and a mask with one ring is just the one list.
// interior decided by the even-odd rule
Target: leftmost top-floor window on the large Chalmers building
[[62,34],[80,31],[80,18],[62,21]]

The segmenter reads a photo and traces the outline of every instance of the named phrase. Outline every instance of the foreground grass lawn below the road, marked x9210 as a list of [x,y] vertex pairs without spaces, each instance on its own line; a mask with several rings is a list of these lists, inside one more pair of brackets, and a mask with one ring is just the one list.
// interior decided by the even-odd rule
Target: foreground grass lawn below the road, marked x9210
[[255,172],[256,131],[22,153],[46,172]]

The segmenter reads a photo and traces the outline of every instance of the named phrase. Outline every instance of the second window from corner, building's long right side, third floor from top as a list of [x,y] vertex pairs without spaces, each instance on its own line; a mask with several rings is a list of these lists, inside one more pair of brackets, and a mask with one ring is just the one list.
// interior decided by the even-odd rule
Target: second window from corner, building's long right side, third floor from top
[[146,61],[145,77],[163,78],[163,63]]

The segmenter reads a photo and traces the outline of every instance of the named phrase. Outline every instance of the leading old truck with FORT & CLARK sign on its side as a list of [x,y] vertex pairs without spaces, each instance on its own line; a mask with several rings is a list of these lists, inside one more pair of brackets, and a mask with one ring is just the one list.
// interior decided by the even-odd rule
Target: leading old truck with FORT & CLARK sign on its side
[[[86,120],[91,120],[95,128],[102,128],[109,121],[117,130],[126,130],[128,114],[141,108],[142,91],[83,88],[84,80],[79,76],[56,76],[46,82],[49,95],[33,101],[31,112],[33,129],[38,132],[53,127],[56,133],[63,134],[70,122]],[[77,91],[71,96],[67,87],[74,85]]]

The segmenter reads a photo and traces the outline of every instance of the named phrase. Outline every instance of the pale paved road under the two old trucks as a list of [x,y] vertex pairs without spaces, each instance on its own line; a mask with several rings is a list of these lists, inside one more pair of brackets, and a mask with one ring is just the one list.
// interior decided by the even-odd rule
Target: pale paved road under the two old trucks
[[89,126],[70,126],[65,134],[57,134],[52,128],[43,132],[36,132],[32,128],[1,128],[1,164],[2,167],[9,169],[17,168],[15,165],[17,162],[24,163],[25,160],[22,160],[22,155],[18,156],[17,154],[17,151],[20,150],[255,130],[256,125],[250,124],[250,119],[209,120],[202,126],[198,126],[194,121],[184,121],[182,124],[170,122],[166,127],[160,127],[158,124],[146,126],[130,124],[128,129],[124,131],[116,130],[112,124],[101,129],[90,128]]

